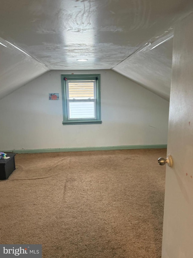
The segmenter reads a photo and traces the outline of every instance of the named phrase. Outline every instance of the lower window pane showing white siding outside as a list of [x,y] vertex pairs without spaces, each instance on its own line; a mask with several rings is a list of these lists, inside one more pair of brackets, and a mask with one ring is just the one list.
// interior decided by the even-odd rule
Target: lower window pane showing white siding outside
[[69,102],[69,118],[95,118],[95,102]]

